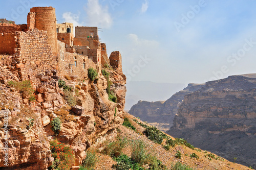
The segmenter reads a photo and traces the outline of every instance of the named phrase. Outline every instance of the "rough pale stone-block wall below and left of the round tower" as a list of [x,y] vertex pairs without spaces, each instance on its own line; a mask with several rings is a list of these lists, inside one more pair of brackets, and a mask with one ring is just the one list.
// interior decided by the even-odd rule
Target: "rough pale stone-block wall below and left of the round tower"
[[13,64],[18,68],[20,79],[38,84],[38,74],[56,69],[57,60],[52,55],[45,31],[16,32],[16,43],[18,48]]

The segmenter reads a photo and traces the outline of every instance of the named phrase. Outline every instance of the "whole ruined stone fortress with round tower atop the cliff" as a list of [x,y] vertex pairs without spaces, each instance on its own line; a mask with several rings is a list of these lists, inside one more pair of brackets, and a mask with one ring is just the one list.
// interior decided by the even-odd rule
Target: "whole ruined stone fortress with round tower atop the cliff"
[[56,70],[60,78],[84,79],[88,78],[90,67],[101,75],[105,63],[113,64],[120,72],[121,64],[116,64],[121,62],[120,53],[114,57],[115,62],[109,61],[105,43],[99,42],[97,27],[76,27],[73,37],[73,24],[57,25],[52,7],[31,8],[27,22],[27,25],[0,23],[0,54],[13,55],[12,66],[21,81],[31,80],[38,85],[41,76],[53,76],[49,74],[51,70]]

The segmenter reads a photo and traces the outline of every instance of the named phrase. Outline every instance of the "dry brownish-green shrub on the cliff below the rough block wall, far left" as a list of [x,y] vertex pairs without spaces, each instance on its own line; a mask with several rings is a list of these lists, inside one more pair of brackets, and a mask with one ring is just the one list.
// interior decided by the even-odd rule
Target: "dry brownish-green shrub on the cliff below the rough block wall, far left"
[[33,89],[30,80],[24,80],[22,82],[9,81],[7,85],[14,87],[16,90],[22,93],[22,97],[24,99],[28,99],[31,102],[35,101],[35,90]]

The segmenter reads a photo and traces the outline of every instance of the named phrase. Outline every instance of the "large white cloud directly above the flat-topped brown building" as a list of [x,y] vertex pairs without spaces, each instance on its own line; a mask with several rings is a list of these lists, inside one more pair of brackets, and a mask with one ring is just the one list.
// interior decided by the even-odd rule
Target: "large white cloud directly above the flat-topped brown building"
[[98,0],[88,0],[84,10],[87,13],[87,25],[101,28],[111,27],[113,19],[108,6],[102,7]]

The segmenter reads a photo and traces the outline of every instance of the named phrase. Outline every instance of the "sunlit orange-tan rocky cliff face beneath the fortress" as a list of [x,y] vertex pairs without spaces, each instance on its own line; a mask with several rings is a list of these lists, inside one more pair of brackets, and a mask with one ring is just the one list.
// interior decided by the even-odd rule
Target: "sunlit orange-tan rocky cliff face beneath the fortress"
[[[24,93],[8,82],[18,82],[18,74],[8,64],[8,57],[0,62],[0,167],[1,169],[46,169],[53,163],[50,141],[55,138],[68,144],[75,154],[73,169],[78,169],[92,144],[116,136],[116,128],[123,123],[126,77],[109,69],[110,89],[117,96],[116,103],[106,93],[107,80],[100,76],[90,80],[66,80],[72,88],[77,105],[70,108],[63,89],[51,75],[38,77],[36,102],[29,102]],[[11,71],[10,71],[11,70]],[[54,71],[53,71],[54,72]],[[76,94],[75,94],[76,93]],[[8,115],[8,124],[5,117]],[[55,117],[61,119],[56,136],[50,125]],[[31,121],[31,119],[34,119]],[[30,127],[30,123],[33,126]],[[6,125],[6,126],[5,126]],[[6,150],[4,150],[6,149]],[[8,154],[7,160],[4,156]],[[7,163],[7,164],[6,164]]]

